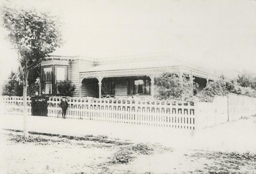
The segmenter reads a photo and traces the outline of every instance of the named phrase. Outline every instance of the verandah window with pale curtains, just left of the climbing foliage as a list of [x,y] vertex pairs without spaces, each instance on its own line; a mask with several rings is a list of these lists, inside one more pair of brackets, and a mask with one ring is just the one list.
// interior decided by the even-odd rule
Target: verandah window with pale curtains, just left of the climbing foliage
[[128,95],[150,94],[150,79],[148,77],[135,77],[128,80]]

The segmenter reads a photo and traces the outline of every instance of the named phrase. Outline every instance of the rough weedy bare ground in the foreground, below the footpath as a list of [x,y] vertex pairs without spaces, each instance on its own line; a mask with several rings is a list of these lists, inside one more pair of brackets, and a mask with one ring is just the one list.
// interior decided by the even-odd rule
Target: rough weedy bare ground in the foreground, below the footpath
[[[119,140],[75,140],[31,134],[22,141],[21,132],[1,130],[1,173],[255,173],[253,153],[228,153],[172,148],[148,143],[149,155],[133,152],[126,164],[109,163],[118,150],[132,146]],[[112,143],[106,143],[112,142]]]

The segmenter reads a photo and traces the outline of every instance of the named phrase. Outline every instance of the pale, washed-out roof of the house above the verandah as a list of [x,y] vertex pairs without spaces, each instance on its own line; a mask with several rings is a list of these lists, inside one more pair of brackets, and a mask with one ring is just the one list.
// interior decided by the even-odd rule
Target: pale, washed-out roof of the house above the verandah
[[83,60],[92,63],[92,68],[82,70],[80,72],[100,72],[100,71],[115,71],[115,70],[131,70],[131,69],[150,69],[161,67],[189,67],[192,69],[200,69],[213,75],[219,74],[217,71],[210,67],[197,63],[195,61],[188,61],[180,56],[170,56],[169,54],[142,54],[133,56],[122,57],[109,57],[109,58],[89,58],[83,56],[56,56],[50,55],[45,60],[68,60],[76,61]]

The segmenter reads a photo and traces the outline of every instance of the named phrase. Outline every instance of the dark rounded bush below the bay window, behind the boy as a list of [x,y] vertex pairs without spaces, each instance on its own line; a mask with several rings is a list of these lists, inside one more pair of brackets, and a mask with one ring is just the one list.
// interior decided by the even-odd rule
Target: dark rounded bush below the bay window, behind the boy
[[72,85],[70,81],[62,81],[58,84],[58,91],[60,92],[60,96],[73,97],[75,89],[76,86]]

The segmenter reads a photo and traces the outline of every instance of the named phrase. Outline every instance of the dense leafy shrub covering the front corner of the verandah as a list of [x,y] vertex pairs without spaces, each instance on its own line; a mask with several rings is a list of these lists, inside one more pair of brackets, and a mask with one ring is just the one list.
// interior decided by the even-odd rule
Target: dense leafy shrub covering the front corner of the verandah
[[[163,73],[155,78],[157,99],[188,99],[192,97],[192,83],[188,75],[183,74],[182,78],[175,73]],[[193,83],[194,89],[198,87]]]

